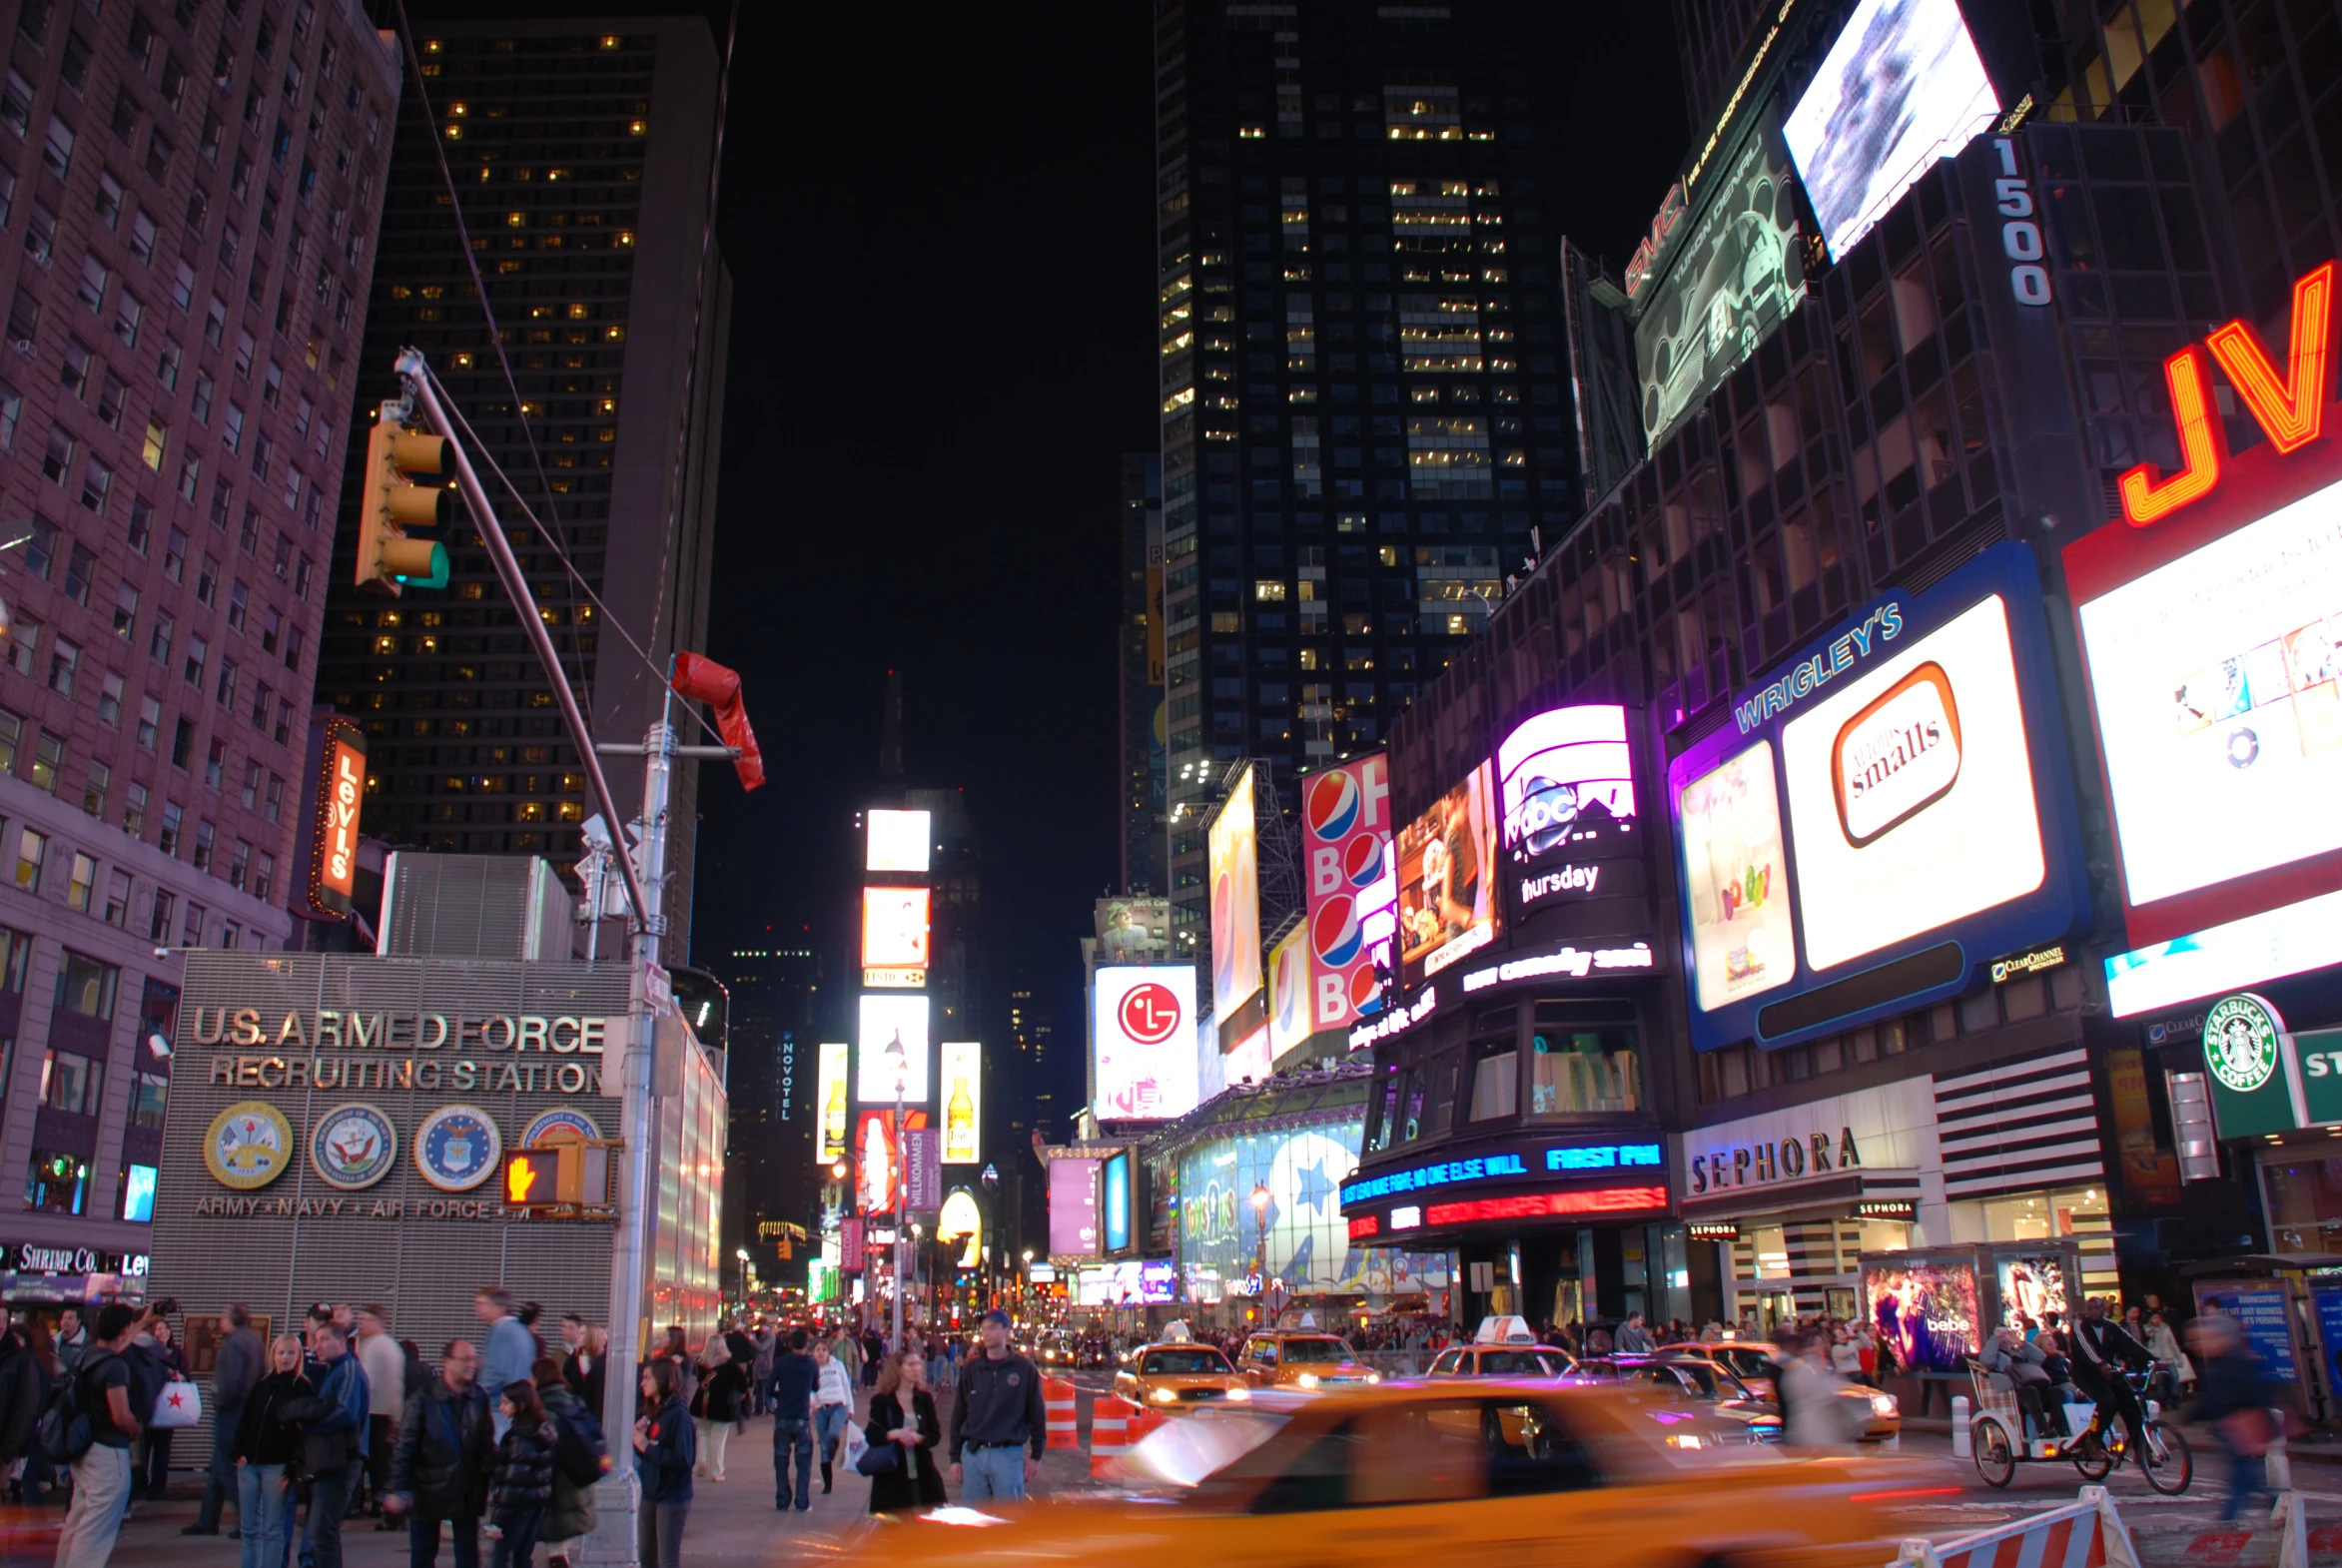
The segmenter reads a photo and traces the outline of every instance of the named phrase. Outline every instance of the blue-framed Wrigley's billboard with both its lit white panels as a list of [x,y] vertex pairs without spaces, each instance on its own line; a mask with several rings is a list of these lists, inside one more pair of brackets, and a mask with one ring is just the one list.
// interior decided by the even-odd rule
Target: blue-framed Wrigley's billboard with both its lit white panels
[[1668,770],[1693,1044],[1853,1027],[2070,934],[2087,878],[2054,690],[2040,571],[2005,543],[1735,693]]

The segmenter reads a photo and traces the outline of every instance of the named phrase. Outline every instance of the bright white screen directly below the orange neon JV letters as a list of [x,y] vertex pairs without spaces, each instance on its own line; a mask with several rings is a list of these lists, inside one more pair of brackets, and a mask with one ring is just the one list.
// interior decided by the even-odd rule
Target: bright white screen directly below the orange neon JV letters
[[2080,620],[2134,906],[2342,850],[2342,484]]

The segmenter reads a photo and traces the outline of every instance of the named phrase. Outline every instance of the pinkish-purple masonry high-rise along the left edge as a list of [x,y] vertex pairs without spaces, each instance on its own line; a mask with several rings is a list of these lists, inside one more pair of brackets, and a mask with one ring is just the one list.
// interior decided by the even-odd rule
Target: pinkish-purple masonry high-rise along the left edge
[[16,1238],[112,1273],[148,1252],[173,950],[295,924],[398,70],[347,0],[28,0],[7,42],[0,1170]]

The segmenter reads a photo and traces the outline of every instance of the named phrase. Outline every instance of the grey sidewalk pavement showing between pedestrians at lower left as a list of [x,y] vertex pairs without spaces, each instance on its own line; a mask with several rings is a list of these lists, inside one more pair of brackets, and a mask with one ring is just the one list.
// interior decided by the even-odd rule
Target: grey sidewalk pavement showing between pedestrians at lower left
[[[822,1495],[822,1474],[813,1472],[813,1512],[782,1514],[773,1509],[773,1423],[749,1421],[724,1458],[726,1481],[700,1481],[684,1528],[686,1563],[794,1563],[806,1554],[831,1554],[855,1526],[869,1517],[869,1481],[838,1470],[836,1491]],[[1042,1465],[1038,1491],[1066,1491],[1089,1481],[1089,1456],[1052,1451]],[[194,1524],[201,1484],[185,1472],[173,1484],[169,1502],[141,1502],[115,1545],[122,1568],[234,1568],[241,1554],[234,1535],[180,1535]],[[63,1519],[63,1509],[49,1509]],[[230,1531],[234,1514],[230,1514]],[[0,1568],[47,1568],[54,1554],[54,1521],[47,1531],[12,1535],[0,1531]],[[482,1561],[487,1540],[480,1542]],[[405,1568],[405,1531],[377,1531],[372,1519],[354,1519],[342,1531],[342,1556],[349,1568]],[[452,1554],[443,1540],[440,1563]],[[536,1561],[543,1563],[543,1549]]]

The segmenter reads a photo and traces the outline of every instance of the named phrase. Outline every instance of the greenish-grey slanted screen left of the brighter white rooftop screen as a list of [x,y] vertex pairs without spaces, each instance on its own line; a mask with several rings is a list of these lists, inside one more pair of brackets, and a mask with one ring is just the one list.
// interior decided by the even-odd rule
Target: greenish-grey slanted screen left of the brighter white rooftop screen
[[1635,321],[1642,428],[1651,447],[1721,386],[1806,297],[1796,178],[1768,110],[1675,243]]

